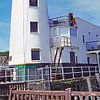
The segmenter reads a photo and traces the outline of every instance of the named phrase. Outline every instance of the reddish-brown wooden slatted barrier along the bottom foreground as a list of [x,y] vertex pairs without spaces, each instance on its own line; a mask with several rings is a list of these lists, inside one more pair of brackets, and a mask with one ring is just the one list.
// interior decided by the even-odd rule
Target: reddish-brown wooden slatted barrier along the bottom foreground
[[100,100],[100,92],[13,90],[9,100]]

